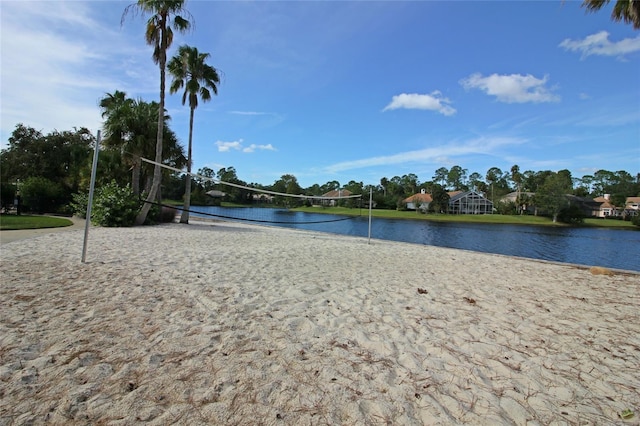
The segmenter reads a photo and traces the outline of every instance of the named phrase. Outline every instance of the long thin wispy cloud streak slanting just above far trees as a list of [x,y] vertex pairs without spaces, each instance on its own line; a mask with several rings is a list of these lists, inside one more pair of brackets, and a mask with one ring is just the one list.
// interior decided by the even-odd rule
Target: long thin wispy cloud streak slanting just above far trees
[[387,166],[415,162],[438,162],[438,159],[467,154],[490,155],[496,149],[503,146],[520,145],[525,139],[509,137],[481,137],[463,143],[449,143],[446,145],[425,148],[416,151],[400,152],[394,155],[370,157],[361,160],[343,161],[326,167],[329,173],[345,170],[362,169],[372,166]]

